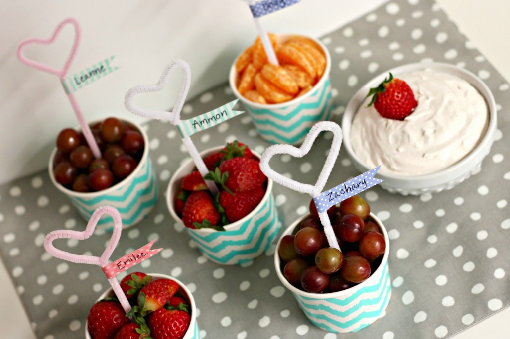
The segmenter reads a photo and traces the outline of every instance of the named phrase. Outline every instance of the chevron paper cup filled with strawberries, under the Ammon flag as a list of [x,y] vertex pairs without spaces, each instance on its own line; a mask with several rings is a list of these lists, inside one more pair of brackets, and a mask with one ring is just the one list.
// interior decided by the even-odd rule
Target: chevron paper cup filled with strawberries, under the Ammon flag
[[[215,263],[236,265],[260,256],[279,230],[273,182],[260,170],[260,155],[236,140],[200,156],[209,174],[202,178],[192,160],[177,169],[166,194],[170,214]],[[219,192],[212,194],[205,180]]]

